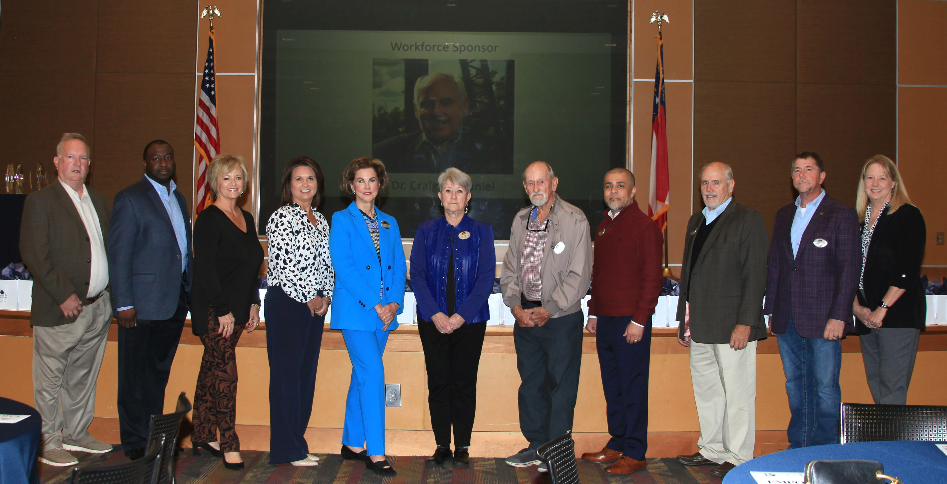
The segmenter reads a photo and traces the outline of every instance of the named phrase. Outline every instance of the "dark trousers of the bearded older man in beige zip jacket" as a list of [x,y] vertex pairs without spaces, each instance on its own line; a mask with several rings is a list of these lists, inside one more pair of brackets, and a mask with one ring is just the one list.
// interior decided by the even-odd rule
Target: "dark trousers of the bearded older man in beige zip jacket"
[[572,429],[579,394],[582,312],[551,318],[542,327],[521,328],[517,324],[513,344],[522,381],[520,430],[529,440],[529,448],[538,449]]

